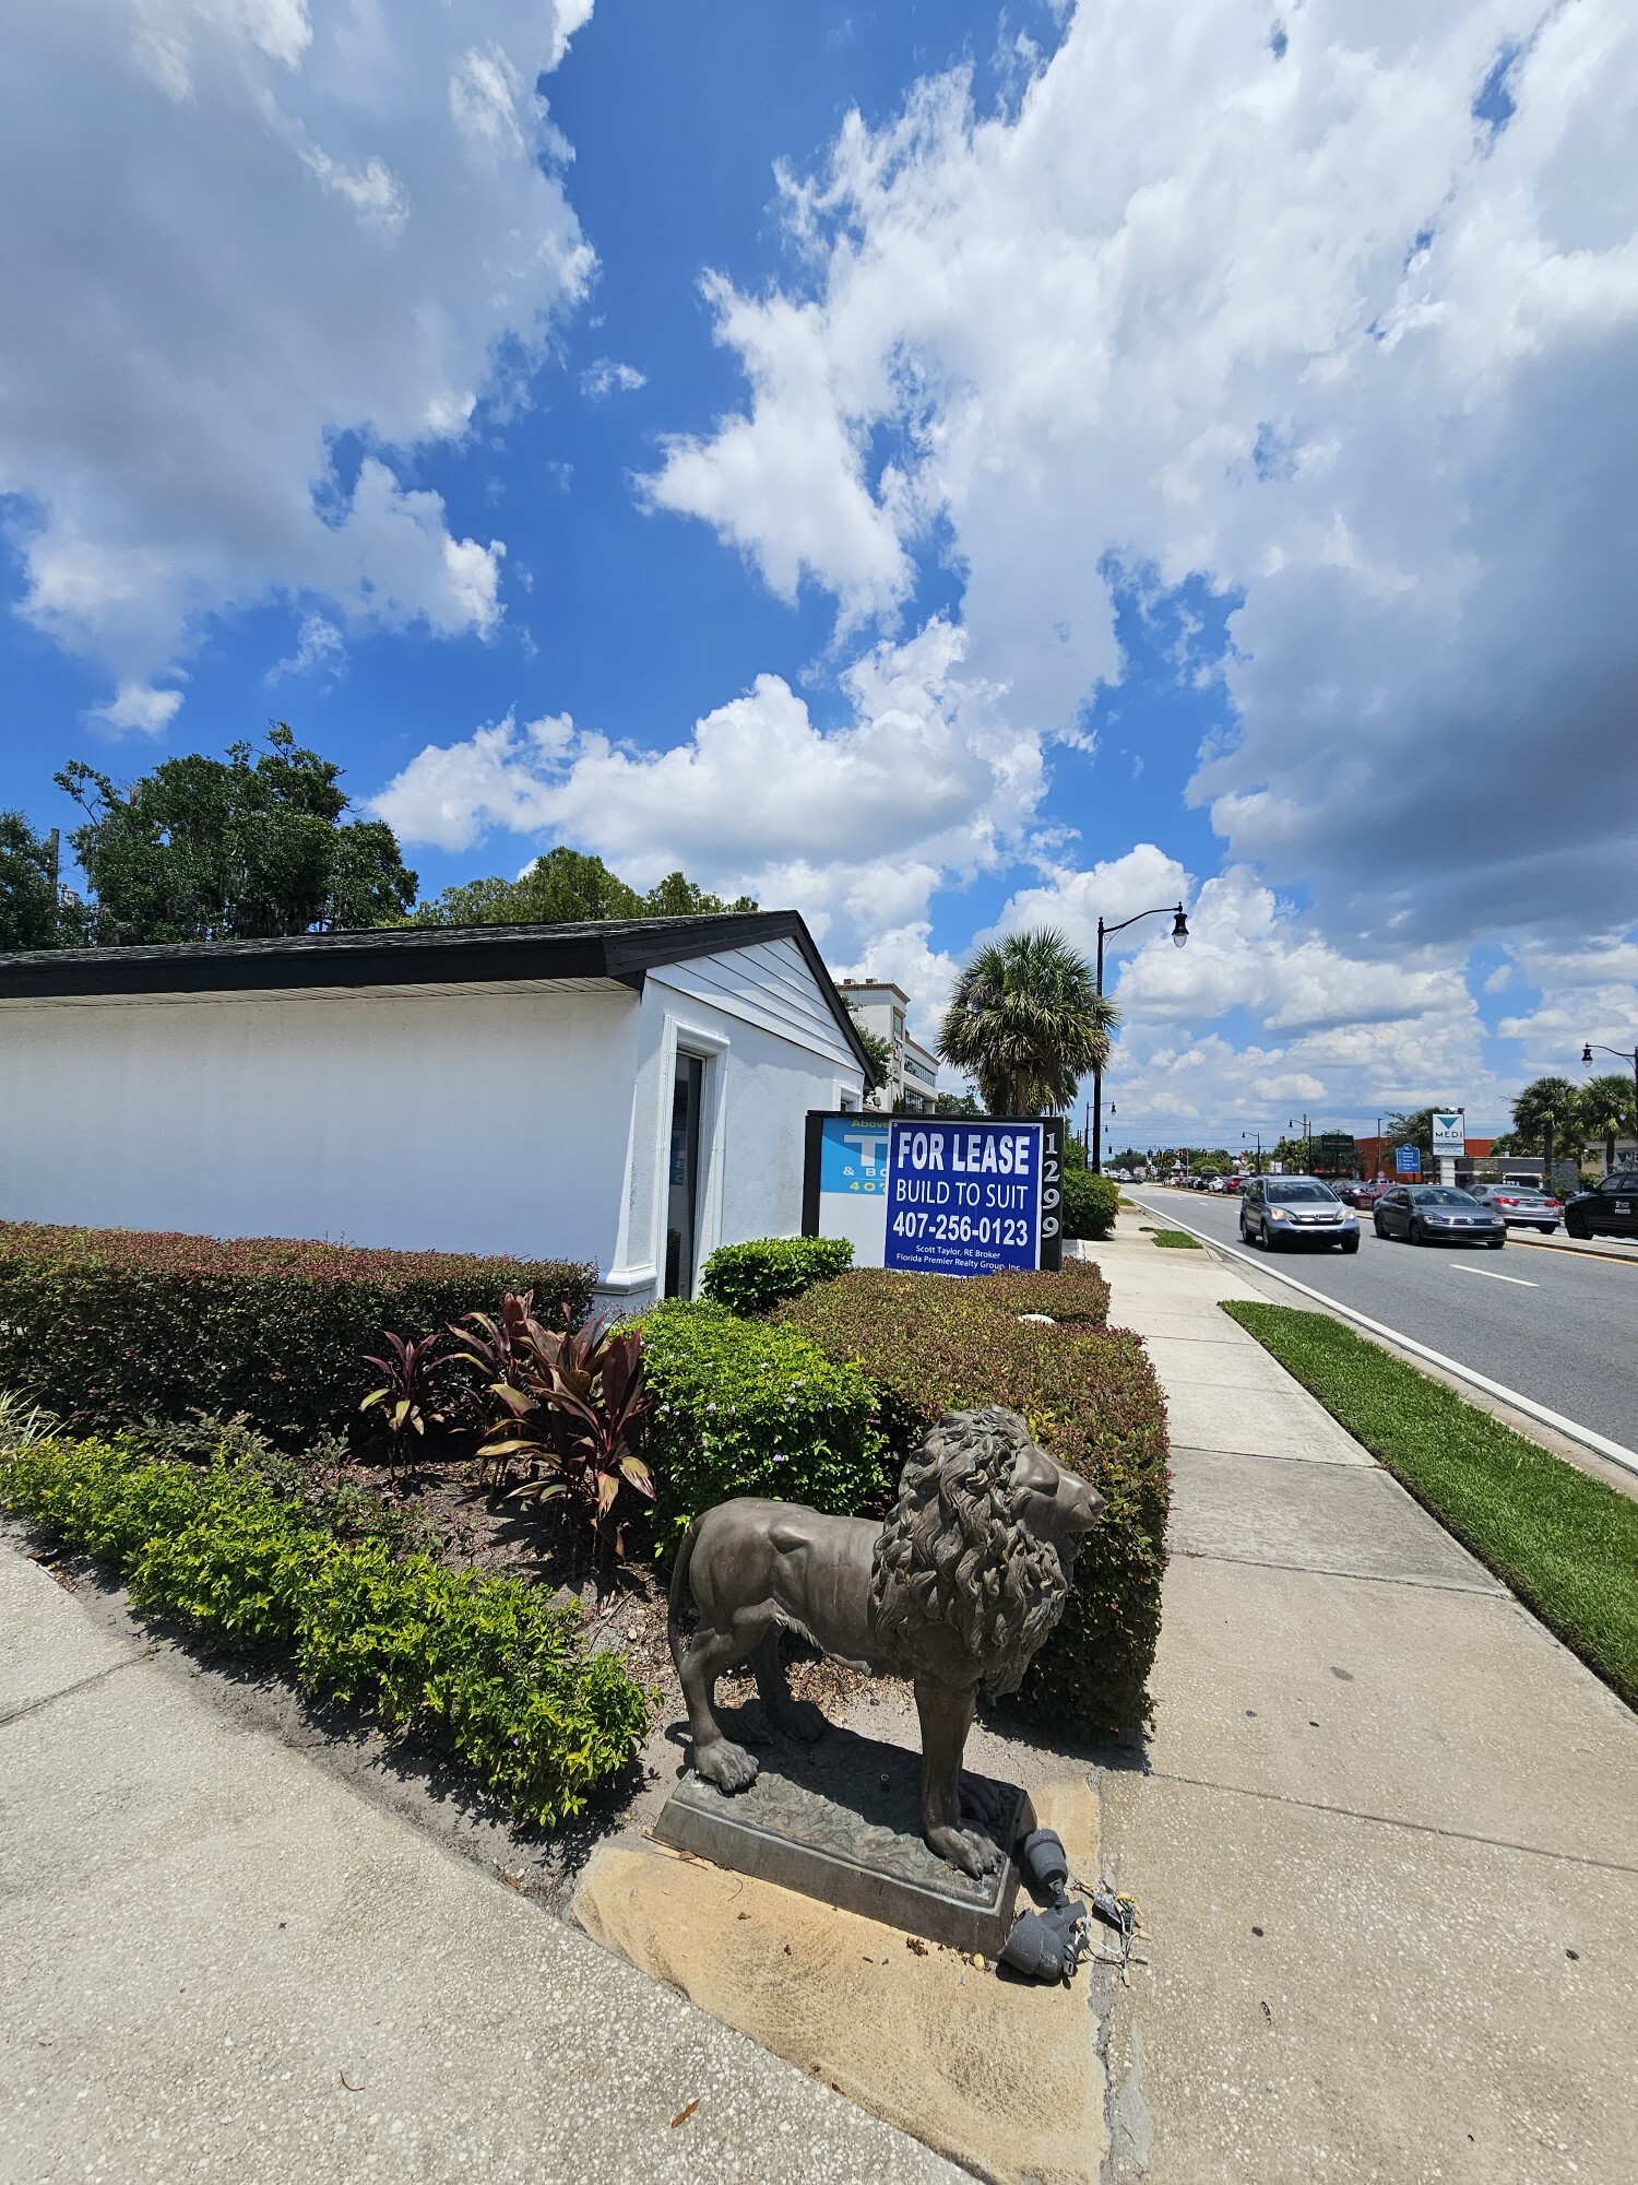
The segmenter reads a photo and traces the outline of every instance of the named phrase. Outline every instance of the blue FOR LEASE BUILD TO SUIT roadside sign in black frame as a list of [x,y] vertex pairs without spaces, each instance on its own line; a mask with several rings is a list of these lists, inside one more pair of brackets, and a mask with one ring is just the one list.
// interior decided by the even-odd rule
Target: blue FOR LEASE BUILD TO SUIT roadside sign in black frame
[[847,1237],[858,1267],[1000,1274],[1064,1250],[1057,1117],[808,1117],[804,1237]]

